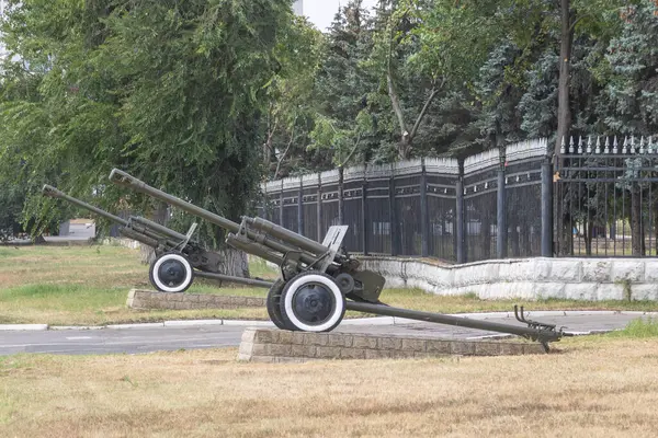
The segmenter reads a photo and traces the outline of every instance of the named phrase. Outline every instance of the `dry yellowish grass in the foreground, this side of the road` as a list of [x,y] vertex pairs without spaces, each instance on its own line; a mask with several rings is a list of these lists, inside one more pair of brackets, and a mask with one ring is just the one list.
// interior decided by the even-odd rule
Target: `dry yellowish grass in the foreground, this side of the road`
[[658,427],[658,339],[435,360],[238,364],[235,349],[0,359],[0,436],[633,436]]

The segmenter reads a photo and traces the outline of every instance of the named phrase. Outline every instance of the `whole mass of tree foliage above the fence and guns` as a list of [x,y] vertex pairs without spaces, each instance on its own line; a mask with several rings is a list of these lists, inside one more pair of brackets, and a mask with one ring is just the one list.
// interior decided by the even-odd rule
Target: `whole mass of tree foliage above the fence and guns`
[[236,218],[266,178],[557,140],[565,114],[656,135],[657,23],[655,0],[352,0],[325,34],[287,0],[12,1],[0,180],[37,222],[43,182],[125,200],[113,166]]

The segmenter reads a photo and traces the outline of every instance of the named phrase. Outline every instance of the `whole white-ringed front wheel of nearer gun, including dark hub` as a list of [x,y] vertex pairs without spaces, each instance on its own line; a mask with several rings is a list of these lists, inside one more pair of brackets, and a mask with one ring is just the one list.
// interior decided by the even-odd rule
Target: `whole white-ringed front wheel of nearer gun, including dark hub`
[[281,316],[304,332],[329,332],[345,314],[345,298],[326,274],[302,273],[291,279],[281,297]]

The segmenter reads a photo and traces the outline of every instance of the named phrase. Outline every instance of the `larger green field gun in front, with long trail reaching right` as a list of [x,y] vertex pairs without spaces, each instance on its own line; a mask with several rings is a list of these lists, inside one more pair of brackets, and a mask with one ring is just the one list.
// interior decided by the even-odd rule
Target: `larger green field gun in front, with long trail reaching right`
[[[236,223],[222,216],[149,186],[114,169],[110,180],[121,186],[147,194],[228,231],[226,242],[237,250],[275,263],[281,278],[268,292],[266,308],[272,322],[283,330],[329,332],[343,319],[345,310],[399,316],[455,326],[515,334],[541,342],[559,341],[566,334],[555,325],[526,320],[514,307],[517,320],[526,326],[500,324],[441,313],[420,312],[386,306],[379,301],[385,279],[361,268],[361,263],[342,247],[347,226],[333,226],[322,243],[290,231],[262,218],[242,217]],[[179,261],[180,270],[188,269]]]

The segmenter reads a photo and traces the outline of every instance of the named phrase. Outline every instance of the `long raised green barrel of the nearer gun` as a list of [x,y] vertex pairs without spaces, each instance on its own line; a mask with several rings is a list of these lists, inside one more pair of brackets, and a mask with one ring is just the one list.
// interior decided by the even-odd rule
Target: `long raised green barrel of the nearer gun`
[[[110,173],[110,181],[112,181],[114,184],[118,184],[121,186],[132,188],[135,192],[144,193],[146,195],[152,196],[156,199],[160,199],[167,204],[173,205],[173,206],[175,206],[184,211],[188,211],[194,216],[197,216],[202,219],[206,219],[207,221],[215,223],[216,226],[219,226],[219,227],[224,228],[225,230],[228,230],[229,232],[238,233],[238,230],[240,229],[240,226],[238,223],[234,222],[232,220],[229,220],[222,216],[215,215],[214,212],[211,212],[201,207],[197,207],[194,204],[190,204],[183,199],[180,199],[180,198],[172,196],[168,193],[164,193],[160,189],[151,187],[150,185],[146,184],[145,182],[143,182],[118,169],[112,170],[112,172]],[[299,252],[299,250],[297,247],[287,245],[286,243],[283,243],[283,242],[279,242],[266,235],[257,237],[256,233],[253,233],[252,231],[247,231],[247,234],[250,239],[254,239],[256,241],[258,241],[258,243],[260,243],[275,252],[283,253],[283,254],[288,253],[288,252]],[[327,250],[325,249],[325,251],[327,251]],[[310,263],[315,262],[316,257],[313,256],[311,254],[308,254],[307,252],[302,252],[299,260],[303,263],[310,264]]]

